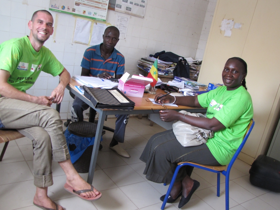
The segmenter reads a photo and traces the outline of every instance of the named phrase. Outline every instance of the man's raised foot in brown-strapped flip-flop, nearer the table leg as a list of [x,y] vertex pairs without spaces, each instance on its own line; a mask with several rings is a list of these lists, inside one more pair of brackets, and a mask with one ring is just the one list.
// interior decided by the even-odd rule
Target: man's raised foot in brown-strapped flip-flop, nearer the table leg
[[[88,184],[85,180],[83,180],[79,174],[77,174],[77,176],[73,179],[67,178],[66,183],[76,191],[82,189],[91,189],[91,185]],[[93,191],[81,193],[80,195],[86,198],[91,198],[91,197],[96,197],[99,194],[100,192],[97,189],[93,188]]]

